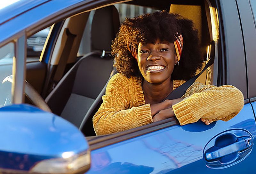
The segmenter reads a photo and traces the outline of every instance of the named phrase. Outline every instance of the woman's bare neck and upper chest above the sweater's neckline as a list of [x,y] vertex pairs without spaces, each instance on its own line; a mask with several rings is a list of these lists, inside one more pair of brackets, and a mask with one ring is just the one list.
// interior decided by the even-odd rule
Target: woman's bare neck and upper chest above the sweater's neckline
[[147,82],[142,77],[142,91],[145,103],[156,104],[163,101],[173,90],[173,83],[170,78],[160,84]]

